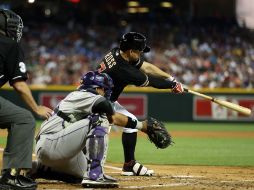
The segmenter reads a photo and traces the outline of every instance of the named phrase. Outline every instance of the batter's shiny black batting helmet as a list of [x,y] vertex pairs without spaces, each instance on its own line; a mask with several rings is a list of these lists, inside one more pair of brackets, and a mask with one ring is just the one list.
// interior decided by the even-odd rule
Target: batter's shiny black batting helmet
[[135,49],[147,53],[150,47],[146,45],[146,37],[138,32],[128,32],[120,40],[120,50]]

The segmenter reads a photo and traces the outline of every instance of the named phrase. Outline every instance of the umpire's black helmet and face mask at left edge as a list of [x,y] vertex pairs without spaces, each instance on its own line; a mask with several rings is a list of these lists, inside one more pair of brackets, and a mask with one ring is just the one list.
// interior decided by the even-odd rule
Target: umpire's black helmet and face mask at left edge
[[0,30],[3,30],[7,37],[19,42],[22,29],[23,21],[19,15],[11,10],[0,8]]

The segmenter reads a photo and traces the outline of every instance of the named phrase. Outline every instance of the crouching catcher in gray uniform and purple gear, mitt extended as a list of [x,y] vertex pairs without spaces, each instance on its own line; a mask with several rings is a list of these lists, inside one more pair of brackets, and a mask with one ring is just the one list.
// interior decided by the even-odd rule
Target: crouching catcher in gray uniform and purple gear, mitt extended
[[[162,123],[155,119],[141,122],[115,113],[109,101],[112,87],[112,79],[105,73],[88,72],[82,77],[78,89],[42,123],[36,136],[38,161],[33,163],[30,177],[42,177],[44,172],[49,179],[81,179],[83,187],[118,187],[117,180],[103,171],[110,123],[146,132],[159,148],[170,145],[170,135]],[[135,168],[137,175],[147,172],[138,163]]]

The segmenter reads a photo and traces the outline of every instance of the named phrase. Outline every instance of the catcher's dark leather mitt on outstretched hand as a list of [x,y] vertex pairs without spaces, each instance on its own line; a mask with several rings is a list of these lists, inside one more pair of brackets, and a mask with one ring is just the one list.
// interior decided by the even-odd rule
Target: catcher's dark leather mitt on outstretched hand
[[153,142],[157,148],[167,148],[173,143],[164,124],[155,118],[149,117],[147,119],[146,133],[149,140]]

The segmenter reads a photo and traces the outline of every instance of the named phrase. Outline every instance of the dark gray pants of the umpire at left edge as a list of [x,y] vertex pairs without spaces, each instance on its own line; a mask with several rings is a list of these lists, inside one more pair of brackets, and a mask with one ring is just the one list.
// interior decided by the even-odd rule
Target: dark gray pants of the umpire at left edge
[[2,169],[31,168],[35,132],[31,112],[0,96],[0,128],[8,130]]

